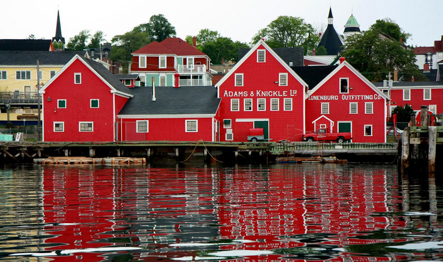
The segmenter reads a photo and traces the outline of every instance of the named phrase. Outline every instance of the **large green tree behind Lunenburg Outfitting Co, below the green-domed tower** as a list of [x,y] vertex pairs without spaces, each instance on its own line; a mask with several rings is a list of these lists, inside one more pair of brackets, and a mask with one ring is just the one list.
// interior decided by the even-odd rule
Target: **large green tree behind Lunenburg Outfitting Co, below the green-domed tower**
[[411,49],[398,41],[380,37],[378,31],[368,30],[353,34],[346,39],[342,57],[371,81],[382,81],[395,68],[403,81],[426,81],[426,77],[415,65],[415,55]]

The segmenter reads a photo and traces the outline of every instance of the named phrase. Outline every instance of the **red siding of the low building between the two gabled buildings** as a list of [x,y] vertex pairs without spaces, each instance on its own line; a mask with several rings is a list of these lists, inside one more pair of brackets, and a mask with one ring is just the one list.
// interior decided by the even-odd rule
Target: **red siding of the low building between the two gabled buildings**
[[[148,120],[148,132],[136,132],[136,121]],[[186,132],[186,120],[197,120],[197,132]],[[120,119],[121,141],[212,141],[212,118]]]

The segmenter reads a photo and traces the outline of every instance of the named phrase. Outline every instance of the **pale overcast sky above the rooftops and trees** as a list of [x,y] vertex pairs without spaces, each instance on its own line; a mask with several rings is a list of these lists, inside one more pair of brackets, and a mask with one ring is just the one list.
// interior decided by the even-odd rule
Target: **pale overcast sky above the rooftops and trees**
[[414,46],[433,46],[443,35],[443,0],[21,0],[2,5],[0,38],[23,39],[34,34],[51,39],[59,9],[66,42],[84,29],[91,34],[100,30],[110,41],[114,35],[147,23],[152,15],[163,14],[183,39],[209,28],[249,43],[258,30],[280,15],[326,26],[329,6],[340,34],[353,13],[362,31],[377,19],[393,19],[412,34],[408,44]]

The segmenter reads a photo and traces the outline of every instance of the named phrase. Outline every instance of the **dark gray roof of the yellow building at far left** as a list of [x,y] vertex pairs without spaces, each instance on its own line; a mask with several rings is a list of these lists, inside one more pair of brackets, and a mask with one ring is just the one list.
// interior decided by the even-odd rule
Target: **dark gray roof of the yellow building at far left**
[[0,51],[2,66],[35,66],[40,65],[64,66],[75,55],[84,56],[86,51]]

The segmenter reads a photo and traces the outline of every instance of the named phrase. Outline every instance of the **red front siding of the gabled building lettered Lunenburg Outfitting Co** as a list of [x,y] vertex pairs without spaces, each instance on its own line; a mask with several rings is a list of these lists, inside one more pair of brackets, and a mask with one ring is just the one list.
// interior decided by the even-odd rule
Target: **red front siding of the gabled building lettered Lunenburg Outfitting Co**
[[[348,94],[340,94],[340,78],[349,78]],[[349,97],[362,95],[369,96],[369,98]],[[332,96],[336,99],[314,100],[318,96]],[[306,112],[309,112],[306,114],[306,131],[315,129],[312,122],[322,115],[322,102],[329,102],[329,114],[324,114],[324,116],[334,122],[334,132],[338,131],[338,122],[351,122],[352,142],[382,143],[385,141],[384,110],[386,101],[384,98],[380,98],[370,86],[349,70],[348,67],[342,67],[306,100]],[[357,114],[349,114],[349,102],[358,102]],[[372,114],[365,114],[365,102],[373,102]],[[372,125],[372,136],[364,136],[364,125]]]

